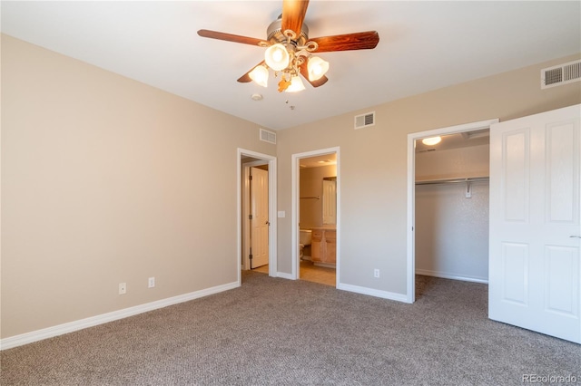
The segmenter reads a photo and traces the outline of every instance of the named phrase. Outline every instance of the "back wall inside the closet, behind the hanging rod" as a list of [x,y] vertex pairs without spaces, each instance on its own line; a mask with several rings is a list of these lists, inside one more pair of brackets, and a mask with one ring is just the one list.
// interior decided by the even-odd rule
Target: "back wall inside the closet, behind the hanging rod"
[[[416,181],[488,176],[489,146],[416,154]],[[488,182],[416,186],[416,274],[488,280]]]

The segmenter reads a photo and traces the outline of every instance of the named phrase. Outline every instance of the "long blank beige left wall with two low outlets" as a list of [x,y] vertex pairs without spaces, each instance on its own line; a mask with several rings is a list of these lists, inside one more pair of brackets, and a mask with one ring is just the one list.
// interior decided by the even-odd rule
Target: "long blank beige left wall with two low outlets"
[[256,124],[5,35],[2,96],[3,338],[236,282]]

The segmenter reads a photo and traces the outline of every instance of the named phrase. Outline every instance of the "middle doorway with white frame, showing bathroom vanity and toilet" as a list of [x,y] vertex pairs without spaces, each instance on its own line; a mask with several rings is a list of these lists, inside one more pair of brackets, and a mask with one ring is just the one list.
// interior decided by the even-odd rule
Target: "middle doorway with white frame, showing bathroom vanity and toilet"
[[340,283],[339,148],[292,156],[292,277]]

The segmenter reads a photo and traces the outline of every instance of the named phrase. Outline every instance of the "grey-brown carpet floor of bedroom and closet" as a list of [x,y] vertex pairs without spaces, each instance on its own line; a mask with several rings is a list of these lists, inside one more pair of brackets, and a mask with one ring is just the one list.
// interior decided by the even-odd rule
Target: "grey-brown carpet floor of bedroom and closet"
[[240,288],[0,360],[2,385],[581,383],[580,345],[490,321],[487,285],[427,276],[402,304],[245,272]]

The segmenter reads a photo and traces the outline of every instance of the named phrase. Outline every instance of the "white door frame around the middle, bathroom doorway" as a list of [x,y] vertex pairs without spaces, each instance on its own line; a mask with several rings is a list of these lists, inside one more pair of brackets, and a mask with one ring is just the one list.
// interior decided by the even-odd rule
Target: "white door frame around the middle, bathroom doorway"
[[335,264],[335,286],[340,284],[340,147],[327,148],[320,150],[306,151],[304,153],[296,153],[291,156],[292,165],[292,215],[291,215],[291,246],[292,248],[292,272],[291,279],[298,280],[300,278],[300,252],[299,252],[299,217],[300,217],[300,191],[299,191],[299,170],[300,159],[308,159],[310,157],[324,156],[327,154],[336,154],[337,156],[337,250]]

